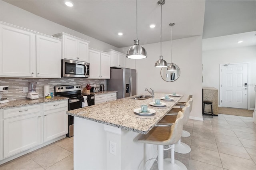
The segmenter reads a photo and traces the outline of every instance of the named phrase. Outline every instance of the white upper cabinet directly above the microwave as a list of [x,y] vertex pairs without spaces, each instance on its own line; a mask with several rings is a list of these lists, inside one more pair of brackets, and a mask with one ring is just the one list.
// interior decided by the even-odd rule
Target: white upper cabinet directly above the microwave
[[62,59],[89,62],[89,43],[86,40],[61,32],[53,35],[62,39]]

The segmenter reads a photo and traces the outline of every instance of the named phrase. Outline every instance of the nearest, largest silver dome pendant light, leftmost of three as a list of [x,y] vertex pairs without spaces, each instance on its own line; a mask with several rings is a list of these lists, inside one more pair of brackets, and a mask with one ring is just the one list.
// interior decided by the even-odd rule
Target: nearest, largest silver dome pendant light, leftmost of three
[[130,59],[142,59],[142,58],[146,58],[147,55],[147,51],[144,47],[142,47],[139,44],[139,40],[137,38],[137,0],[136,0],[136,40],[134,40],[134,45],[132,45],[127,53],[126,53],[126,57],[130,58]]

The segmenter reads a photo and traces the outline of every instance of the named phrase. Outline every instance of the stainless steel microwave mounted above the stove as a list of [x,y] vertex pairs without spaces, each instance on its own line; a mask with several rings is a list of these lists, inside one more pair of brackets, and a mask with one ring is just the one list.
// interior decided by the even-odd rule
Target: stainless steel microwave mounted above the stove
[[61,60],[61,77],[89,77],[90,64],[83,61],[62,59]]

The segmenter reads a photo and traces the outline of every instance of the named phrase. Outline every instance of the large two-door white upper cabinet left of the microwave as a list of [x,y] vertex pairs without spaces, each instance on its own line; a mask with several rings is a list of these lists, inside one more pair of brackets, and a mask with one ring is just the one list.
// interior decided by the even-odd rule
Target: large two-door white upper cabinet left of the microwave
[[1,77],[60,78],[61,40],[1,22]]

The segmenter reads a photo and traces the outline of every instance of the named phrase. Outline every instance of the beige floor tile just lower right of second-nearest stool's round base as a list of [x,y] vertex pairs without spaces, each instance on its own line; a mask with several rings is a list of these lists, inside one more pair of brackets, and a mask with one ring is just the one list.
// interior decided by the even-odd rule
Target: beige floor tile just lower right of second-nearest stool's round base
[[213,150],[191,146],[190,159],[222,168],[219,152]]

